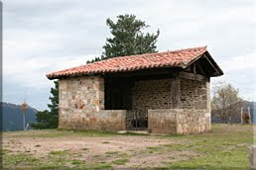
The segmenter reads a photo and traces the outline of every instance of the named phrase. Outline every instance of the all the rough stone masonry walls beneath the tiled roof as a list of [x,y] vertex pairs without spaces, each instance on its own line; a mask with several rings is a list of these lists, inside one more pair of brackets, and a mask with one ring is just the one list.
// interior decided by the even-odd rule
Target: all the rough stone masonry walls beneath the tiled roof
[[[210,130],[209,82],[180,81],[180,107],[172,105],[173,79],[140,80],[133,88],[133,107],[148,114],[148,129],[156,133],[196,133]],[[60,80],[60,128],[125,130],[126,110],[104,110],[104,78],[83,76]]]

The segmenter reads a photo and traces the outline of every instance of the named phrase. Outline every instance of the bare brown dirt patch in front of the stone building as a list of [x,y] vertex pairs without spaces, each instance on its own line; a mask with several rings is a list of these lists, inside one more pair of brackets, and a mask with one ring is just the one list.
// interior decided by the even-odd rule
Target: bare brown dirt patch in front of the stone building
[[[30,131],[30,134],[40,132]],[[180,144],[185,142],[187,140],[179,140]],[[30,137],[23,136],[22,132],[10,132],[3,137],[4,149],[11,153],[29,153],[38,159],[58,151],[68,152],[70,158],[89,164],[127,159],[125,164],[117,163],[115,167],[161,167],[170,159],[179,161],[199,156],[192,150],[171,151],[161,147],[174,143],[177,140],[143,135]]]

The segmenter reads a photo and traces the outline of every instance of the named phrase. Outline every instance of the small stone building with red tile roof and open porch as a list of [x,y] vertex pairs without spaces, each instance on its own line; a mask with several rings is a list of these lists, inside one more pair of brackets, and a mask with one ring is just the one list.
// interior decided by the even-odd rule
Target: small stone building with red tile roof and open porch
[[210,77],[223,72],[206,46],[120,56],[47,75],[60,80],[59,127],[210,130]]

